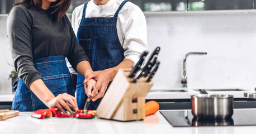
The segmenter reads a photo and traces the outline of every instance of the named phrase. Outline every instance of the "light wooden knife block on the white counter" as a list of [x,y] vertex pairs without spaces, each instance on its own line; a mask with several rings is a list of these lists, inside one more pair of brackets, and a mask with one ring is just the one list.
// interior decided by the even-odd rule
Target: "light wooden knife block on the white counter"
[[145,118],[145,97],[153,86],[142,76],[132,83],[131,69],[118,70],[106,94],[99,103],[97,116],[117,121],[135,121]]

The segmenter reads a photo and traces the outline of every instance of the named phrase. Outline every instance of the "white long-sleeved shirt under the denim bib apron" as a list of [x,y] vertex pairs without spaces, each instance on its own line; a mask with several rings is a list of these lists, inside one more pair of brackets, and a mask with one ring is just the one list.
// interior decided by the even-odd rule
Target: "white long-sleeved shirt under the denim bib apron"
[[[89,1],[86,8],[86,18],[113,17],[124,0],[110,0],[106,4],[97,5]],[[77,35],[83,15],[84,4],[74,9],[72,14],[72,27]],[[141,9],[131,2],[126,2],[117,16],[118,39],[124,48],[125,59],[134,62],[139,60],[143,51],[148,50],[146,19]],[[68,63],[70,73],[77,74]]]

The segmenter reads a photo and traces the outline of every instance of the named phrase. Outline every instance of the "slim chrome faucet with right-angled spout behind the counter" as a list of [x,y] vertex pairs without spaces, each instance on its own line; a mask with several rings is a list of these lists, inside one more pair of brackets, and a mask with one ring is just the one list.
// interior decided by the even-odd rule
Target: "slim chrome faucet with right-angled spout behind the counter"
[[181,79],[181,83],[183,84],[183,88],[187,88],[187,64],[186,64],[186,60],[188,55],[206,55],[207,52],[188,52],[185,56],[185,58],[183,59],[183,76]]

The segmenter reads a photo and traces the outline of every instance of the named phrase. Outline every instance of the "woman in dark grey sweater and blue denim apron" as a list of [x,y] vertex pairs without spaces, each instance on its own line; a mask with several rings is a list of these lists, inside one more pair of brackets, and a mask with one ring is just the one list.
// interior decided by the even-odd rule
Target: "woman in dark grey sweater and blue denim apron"
[[[78,109],[65,57],[79,74],[92,73],[65,15],[71,0],[22,0],[7,19],[7,35],[17,70],[18,85],[12,109],[36,111],[58,107]],[[88,84],[95,84],[92,79]]]

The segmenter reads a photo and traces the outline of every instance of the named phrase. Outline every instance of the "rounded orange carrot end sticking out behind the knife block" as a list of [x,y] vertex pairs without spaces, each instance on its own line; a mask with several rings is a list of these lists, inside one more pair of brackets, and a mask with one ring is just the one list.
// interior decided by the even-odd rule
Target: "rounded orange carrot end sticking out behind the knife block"
[[154,100],[145,103],[145,116],[154,114],[159,110],[159,104]]

